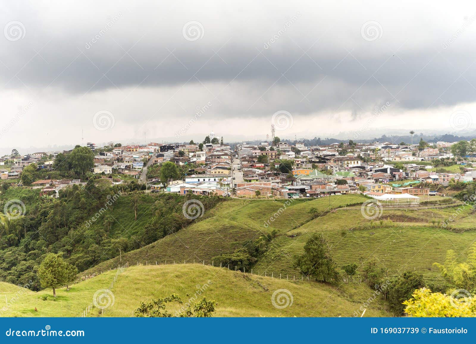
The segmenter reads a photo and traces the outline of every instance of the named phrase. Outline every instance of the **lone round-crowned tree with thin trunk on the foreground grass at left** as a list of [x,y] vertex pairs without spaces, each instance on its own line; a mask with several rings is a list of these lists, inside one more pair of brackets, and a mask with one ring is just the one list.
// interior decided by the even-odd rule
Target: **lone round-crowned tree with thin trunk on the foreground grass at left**
[[53,296],[56,297],[56,288],[67,282],[67,265],[60,255],[50,253],[41,262],[38,269],[38,277],[43,288],[53,288]]

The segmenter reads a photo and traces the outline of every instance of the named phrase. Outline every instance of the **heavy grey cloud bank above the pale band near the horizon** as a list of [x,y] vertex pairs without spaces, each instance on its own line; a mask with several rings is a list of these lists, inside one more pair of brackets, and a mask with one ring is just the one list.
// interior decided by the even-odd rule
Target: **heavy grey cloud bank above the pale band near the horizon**
[[[222,113],[253,116],[269,101],[301,114],[347,109],[356,118],[385,101],[426,109],[474,100],[476,23],[458,31],[470,10],[428,9],[423,20],[405,6],[379,14],[377,4],[216,5],[69,3],[51,15],[43,13],[48,3],[9,5],[2,25],[19,20],[26,35],[0,39],[0,82],[35,95],[60,89],[79,97],[187,83],[210,88]],[[192,20],[204,32],[190,41],[182,28]],[[379,25],[375,40],[361,32],[371,20]],[[239,105],[225,101],[237,85],[246,89]]]

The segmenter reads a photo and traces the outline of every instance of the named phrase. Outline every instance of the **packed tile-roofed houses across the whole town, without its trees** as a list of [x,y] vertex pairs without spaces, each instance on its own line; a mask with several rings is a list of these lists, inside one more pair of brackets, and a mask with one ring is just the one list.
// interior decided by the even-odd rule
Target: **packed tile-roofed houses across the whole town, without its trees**
[[[214,136],[212,132],[210,138]],[[87,146],[96,153],[93,143]],[[428,172],[426,169],[431,166],[418,164],[417,161],[452,157],[447,149],[450,146],[451,143],[438,142],[434,147],[419,150],[417,145],[388,142],[349,143],[344,147],[342,143],[308,147],[299,142],[278,142],[272,147],[270,143],[262,142],[237,144],[232,150],[230,146],[218,143],[151,142],[114,147],[109,152],[98,151],[92,172],[110,175],[115,169],[118,173],[139,178],[145,163],[150,166],[170,161],[178,166],[193,163],[183,179],[168,181],[166,192],[172,193],[230,195],[233,189],[237,196],[243,197],[324,197],[361,192],[370,197],[418,198],[434,193],[429,188],[412,187],[412,183],[448,186],[451,180],[476,181],[476,168],[471,162],[458,162],[464,166],[461,173]],[[22,169],[31,163],[51,169],[58,153],[37,152],[14,157],[10,169],[0,168],[0,177],[18,178]],[[0,166],[8,158],[1,158]],[[283,160],[289,161],[286,166],[290,168],[283,170],[280,162]],[[416,163],[405,163],[410,160]],[[395,162],[402,164],[405,171],[395,167]],[[412,181],[405,183],[406,180]],[[75,182],[79,181],[43,180],[34,182],[33,186],[43,187],[48,193],[58,192],[60,187]],[[156,190],[163,185],[153,178],[147,181],[147,187]]]

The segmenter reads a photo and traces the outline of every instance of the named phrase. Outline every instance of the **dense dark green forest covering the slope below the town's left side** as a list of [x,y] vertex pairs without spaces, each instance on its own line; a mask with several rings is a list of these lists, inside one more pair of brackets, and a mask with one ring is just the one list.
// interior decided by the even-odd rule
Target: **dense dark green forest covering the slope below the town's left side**
[[[3,187],[1,209],[20,200],[26,213],[1,216],[0,280],[39,290],[37,271],[48,253],[61,253],[79,271],[174,233],[192,220],[182,214],[188,196],[144,194],[135,181],[111,186],[104,179],[40,197],[39,189]],[[197,197],[205,209],[220,197]],[[11,216],[10,216],[11,217]]]

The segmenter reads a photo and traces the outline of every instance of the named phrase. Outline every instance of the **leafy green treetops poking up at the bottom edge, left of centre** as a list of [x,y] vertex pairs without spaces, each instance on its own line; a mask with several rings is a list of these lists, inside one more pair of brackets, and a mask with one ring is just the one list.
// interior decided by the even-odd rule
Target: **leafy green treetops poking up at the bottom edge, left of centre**
[[[173,317],[172,313],[169,313],[165,307],[170,302],[177,302],[178,305],[183,305],[180,296],[177,294],[172,294],[167,297],[152,299],[148,304],[140,303],[139,308],[134,311],[134,316],[136,317]],[[176,311],[177,317],[196,317],[196,318],[207,318],[215,312],[215,306],[217,303],[215,301],[207,301],[204,297],[198,303],[193,305],[186,304],[186,308],[181,307],[181,310]],[[193,307],[193,308],[192,308]]]

